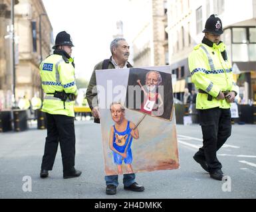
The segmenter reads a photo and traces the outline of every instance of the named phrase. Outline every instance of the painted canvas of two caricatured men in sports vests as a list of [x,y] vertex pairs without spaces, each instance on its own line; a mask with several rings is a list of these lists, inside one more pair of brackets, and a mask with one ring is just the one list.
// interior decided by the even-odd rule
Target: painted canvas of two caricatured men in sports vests
[[180,167],[170,66],[96,71],[105,174]]

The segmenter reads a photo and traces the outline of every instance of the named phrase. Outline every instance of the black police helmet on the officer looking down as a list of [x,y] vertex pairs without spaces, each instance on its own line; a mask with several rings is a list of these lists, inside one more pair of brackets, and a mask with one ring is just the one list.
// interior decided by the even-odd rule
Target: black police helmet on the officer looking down
[[221,35],[223,33],[221,19],[217,15],[211,15],[205,23],[203,32]]

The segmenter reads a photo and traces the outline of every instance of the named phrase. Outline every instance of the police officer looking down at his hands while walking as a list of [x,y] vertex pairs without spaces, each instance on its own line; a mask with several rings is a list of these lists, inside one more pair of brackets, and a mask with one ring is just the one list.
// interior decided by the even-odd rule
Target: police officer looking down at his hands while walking
[[188,58],[192,82],[198,89],[196,109],[203,133],[203,147],[193,158],[211,178],[222,180],[222,166],[216,152],[231,135],[230,107],[237,90],[225,44],[220,40],[221,19],[211,15],[203,32],[201,44],[193,48]]

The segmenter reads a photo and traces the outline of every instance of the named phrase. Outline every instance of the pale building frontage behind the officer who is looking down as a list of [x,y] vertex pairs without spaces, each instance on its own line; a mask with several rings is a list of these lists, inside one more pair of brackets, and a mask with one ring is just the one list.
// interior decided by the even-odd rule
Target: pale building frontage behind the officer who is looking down
[[193,89],[188,55],[203,38],[205,21],[211,14],[219,15],[244,103],[256,101],[256,1],[245,0],[168,0],[170,65],[176,75],[174,93],[182,99],[184,88]]

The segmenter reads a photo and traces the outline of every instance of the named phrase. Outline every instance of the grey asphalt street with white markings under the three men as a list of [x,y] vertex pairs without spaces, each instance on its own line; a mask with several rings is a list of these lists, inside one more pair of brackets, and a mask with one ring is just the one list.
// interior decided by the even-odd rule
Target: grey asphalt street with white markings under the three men
[[[201,146],[199,125],[178,125],[180,169],[137,174],[136,181],[145,187],[142,193],[125,191],[121,176],[113,196],[105,194],[100,125],[92,121],[75,125],[76,168],[82,175],[69,180],[63,179],[60,149],[49,178],[39,178],[45,130],[31,127],[25,132],[1,133],[0,198],[256,198],[255,125],[233,125],[231,137],[218,152],[223,172],[230,177],[229,189],[224,182],[209,178],[192,158]],[[31,191],[23,191],[24,176],[31,177]]]

